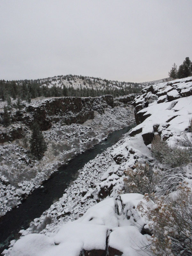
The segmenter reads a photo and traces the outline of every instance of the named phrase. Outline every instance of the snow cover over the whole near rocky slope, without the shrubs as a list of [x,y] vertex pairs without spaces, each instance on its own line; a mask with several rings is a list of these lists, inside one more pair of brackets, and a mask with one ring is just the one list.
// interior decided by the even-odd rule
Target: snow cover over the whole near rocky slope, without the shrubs
[[[141,234],[142,228],[148,227],[148,223],[137,210],[140,202],[146,205],[147,202],[141,194],[124,194],[124,171],[128,167],[134,168],[137,162],[150,163],[152,167],[156,167],[150,151],[151,143],[146,146],[142,137],[147,132],[154,134],[154,125],[156,125],[156,134],[171,146],[175,144],[175,139],[180,138],[188,129],[189,119],[192,118],[190,112],[192,95],[187,97],[181,95],[182,97],[170,101],[168,97],[177,97],[181,90],[190,88],[192,85],[188,82],[190,79],[191,77],[175,80],[168,85],[167,83],[153,85],[155,94],[147,94],[144,91],[137,97],[136,102],[149,103],[147,108],[137,114],[150,116],[132,130],[138,131],[142,128],[142,132],[134,137],[125,135],[116,145],[87,163],[59,202],[54,203],[40,218],[31,223],[27,232],[32,232],[38,223],[43,222],[45,216],[52,214],[52,223],[41,231],[42,236],[49,236],[51,239],[48,241],[44,238],[50,250],[46,250],[42,245],[44,251],[40,250],[38,255],[62,255],[61,252],[67,252],[65,255],[79,256],[82,250],[93,248],[105,250],[106,246],[108,250],[110,248],[118,250],[117,254],[121,252],[123,256],[149,255],[141,249],[149,243],[147,238],[150,236]],[[162,93],[165,93],[164,98],[161,98]],[[157,103],[160,98],[165,99],[165,102]],[[186,167],[185,177],[189,183],[191,183],[191,175],[192,168],[189,164]],[[172,192],[173,195],[174,193],[175,191]],[[102,201],[97,203],[100,200]],[[153,209],[156,207],[154,205]],[[61,216],[60,213],[66,208],[70,209],[70,215]],[[26,234],[24,231],[21,233]],[[33,235],[35,234],[30,236]],[[106,237],[108,237],[107,244]],[[7,256],[10,252],[15,253],[11,254],[12,256],[22,255],[17,250],[21,250],[22,246],[25,247],[23,238],[13,245],[13,249],[8,250]],[[29,240],[33,241],[31,237]],[[52,244],[53,241],[58,245]],[[24,250],[27,251],[26,247],[22,253]]]

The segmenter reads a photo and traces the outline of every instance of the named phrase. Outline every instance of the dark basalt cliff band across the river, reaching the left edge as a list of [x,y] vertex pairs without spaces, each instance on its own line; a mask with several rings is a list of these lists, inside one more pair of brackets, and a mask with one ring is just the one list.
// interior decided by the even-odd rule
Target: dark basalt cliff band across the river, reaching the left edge
[[[83,124],[94,118],[94,111],[102,114],[104,109],[114,107],[112,95],[95,98],[60,97],[31,103],[18,113],[12,114],[12,127],[2,129],[0,143],[22,138],[21,125],[31,126],[37,121],[42,131],[51,128],[52,123],[62,119],[63,124]],[[1,113],[3,116],[3,113]]]

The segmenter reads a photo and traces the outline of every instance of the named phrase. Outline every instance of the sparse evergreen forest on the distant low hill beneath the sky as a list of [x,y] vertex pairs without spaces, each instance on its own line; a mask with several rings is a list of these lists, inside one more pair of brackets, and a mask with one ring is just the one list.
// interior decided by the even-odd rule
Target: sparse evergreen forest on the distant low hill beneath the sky
[[[78,78],[79,84],[74,87]],[[66,86],[67,82],[67,86]],[[30,103],[37,97],[97,97],[111,94],[114,97],[140,92],[141,86],[137,83],[125,83],[102,80],[100,78],[84,76],[57,76],[37,80],[0,80],[0,99],[7,100],[20,97]]]

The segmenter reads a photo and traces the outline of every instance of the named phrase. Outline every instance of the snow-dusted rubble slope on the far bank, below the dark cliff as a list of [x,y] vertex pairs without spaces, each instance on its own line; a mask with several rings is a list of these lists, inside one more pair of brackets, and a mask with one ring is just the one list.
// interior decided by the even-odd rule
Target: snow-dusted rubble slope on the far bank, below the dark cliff
[[60,165],[99,143],[108,133],[133,124],[133,108],[109,107],[102,114],[95,111],[94,118],[84,124],[62,125],[61,122],[43,132],[48,150],[40,161],[30,158],[28,150],[22,147],[22,139],[1,144],[1,216],[41,186]]

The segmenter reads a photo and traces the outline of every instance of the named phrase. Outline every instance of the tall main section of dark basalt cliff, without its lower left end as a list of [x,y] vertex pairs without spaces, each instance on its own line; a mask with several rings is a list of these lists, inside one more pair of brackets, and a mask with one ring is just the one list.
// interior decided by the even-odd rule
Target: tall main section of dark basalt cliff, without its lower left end
[[63,124],[83,124],[88,119],[94,118],[94,111],[102,114],[108,106],[113,108],[113,97],[105,95],[96,98],[61,97],[44,100],[39,106],[28,106],[27,112],[31,113],[32,120],[41,124],[42,130],[51,127],[52,122],[62,118]]

